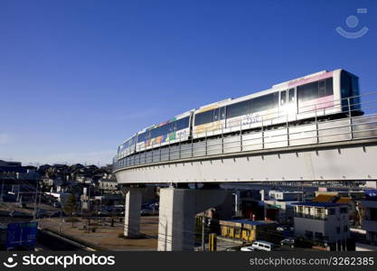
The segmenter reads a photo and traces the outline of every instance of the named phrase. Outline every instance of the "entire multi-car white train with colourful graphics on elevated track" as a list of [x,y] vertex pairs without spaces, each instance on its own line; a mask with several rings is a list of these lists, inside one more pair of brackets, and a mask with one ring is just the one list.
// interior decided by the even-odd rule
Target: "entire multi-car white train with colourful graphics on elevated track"
[[351,72],[322,70],[240,98],[227,98],[148,126],[118,146],[114,162],[164,145],[226,136],[314,117],[363,114],[359,78]]

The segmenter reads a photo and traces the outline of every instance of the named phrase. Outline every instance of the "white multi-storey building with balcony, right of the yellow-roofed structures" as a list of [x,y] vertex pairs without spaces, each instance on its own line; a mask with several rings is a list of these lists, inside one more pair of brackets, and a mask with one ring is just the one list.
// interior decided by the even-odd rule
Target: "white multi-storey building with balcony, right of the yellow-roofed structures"
[[350,238],[349,206],[333,202],[297,202],[295,236],[338,244],[343,247]]

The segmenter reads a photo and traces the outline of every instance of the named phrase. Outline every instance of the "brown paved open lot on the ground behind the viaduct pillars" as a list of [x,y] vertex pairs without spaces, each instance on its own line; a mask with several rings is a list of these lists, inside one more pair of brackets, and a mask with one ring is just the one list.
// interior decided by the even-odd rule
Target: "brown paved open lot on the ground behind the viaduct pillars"
[[[158,216],[141,217],[140,231],[142,233],[141,238],[119,238],[119,234],[123,234],[123,222],[114,223],[114,227],[110,225],[109,218],[102,218],[106,220],[100,225],[100,219],[96,220],[95,226],[90,228],[96,228],[95,232],[87,231],[84,228],[87,220],[80,220],[74,223],[64,221],[62,222],[62,232],[66,236],[70,236],[74,240],[83,241],[88,246],[94,244],[104,250],[156,250],[157,249],[157,232],[158,232]],[[52,229],[55,232],[59,232],[60,219],[50,218],[42,219],[40,226],[42,229]]]

